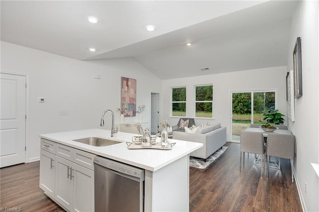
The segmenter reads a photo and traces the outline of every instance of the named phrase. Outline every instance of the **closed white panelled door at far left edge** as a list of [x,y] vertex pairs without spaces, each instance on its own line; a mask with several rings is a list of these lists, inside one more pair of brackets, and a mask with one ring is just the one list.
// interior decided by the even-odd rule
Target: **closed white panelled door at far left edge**
[[25,162],[25,82],[0,74],[0,167]]

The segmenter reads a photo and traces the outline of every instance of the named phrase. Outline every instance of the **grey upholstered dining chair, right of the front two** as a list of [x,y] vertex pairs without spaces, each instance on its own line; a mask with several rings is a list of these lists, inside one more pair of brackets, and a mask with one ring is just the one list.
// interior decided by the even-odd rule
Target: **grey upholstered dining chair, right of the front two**
[[294,182],[294,158],[295,158],[295,135],[285,135],[278,133],[268,133],[267,137],[267,177],[269,176],[269,158],[270,156],[290,159],[291,178]]

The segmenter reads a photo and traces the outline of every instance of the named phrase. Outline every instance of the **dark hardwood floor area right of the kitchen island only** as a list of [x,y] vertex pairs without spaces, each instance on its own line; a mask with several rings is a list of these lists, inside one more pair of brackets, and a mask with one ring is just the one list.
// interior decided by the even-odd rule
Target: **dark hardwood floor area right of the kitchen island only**
[[281,171],[253,166],[254,155],[245,154],[239,172],[240,144],[226,143],[228,149],[205,170],[189,169],[191,212],[301,212],[296,183],[291,182],[290,162],[281,159]]

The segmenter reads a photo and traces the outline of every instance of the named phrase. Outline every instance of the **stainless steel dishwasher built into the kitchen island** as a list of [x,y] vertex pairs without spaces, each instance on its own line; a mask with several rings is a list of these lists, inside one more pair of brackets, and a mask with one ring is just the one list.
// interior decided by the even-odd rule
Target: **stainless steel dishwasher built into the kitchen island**
[[95,212],[143,212],[145,170],[94,158]]

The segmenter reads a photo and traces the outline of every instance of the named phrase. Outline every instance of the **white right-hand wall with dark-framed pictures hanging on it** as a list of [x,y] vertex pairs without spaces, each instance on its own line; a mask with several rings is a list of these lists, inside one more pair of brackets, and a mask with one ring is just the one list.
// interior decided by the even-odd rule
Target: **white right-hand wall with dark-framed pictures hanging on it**
[[290,121],[289,126],[296,135],[295,172],[308,211],[319,211],[319,178],[310,164],[319,163],[318,4],[318,0],[304,0],[298,4],[292,19],[287,65],[289,70],[293,70],[293,50],[297,37],[301,37],[303,96],[295,99],[296,119],[295,122]]

